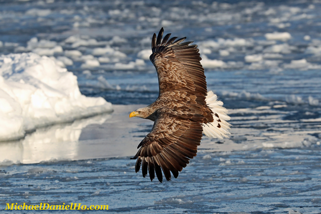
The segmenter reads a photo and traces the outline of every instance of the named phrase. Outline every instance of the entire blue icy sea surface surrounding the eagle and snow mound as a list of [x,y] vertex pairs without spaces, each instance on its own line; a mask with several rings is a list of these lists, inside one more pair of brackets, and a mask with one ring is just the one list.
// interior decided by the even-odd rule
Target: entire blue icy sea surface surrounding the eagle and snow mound
[[[0,213],[8,202],[321,213],[320,10],[318,0],[0,1],[0,54],[51,57],[83,94],[115,109],[0,142]],[[163,183],[134,173],[129,156],[152,123],[128,118],[158,96],[148,57],[161,27],[199,45],[208,89],[233,125],[229,139],[204,137],[198,156]]]

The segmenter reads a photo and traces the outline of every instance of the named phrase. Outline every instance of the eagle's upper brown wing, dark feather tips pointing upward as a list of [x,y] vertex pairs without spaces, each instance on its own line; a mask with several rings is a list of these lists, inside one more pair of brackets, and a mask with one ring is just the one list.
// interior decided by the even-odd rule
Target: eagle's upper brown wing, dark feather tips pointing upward
[[153,53],[150,56],[157,70],[160,95],[173,90],[186,91],[196,96],[198,104],[205,106],[207,87],[197,45],[189,45],[193,42],[182,43],[186,37],[169,39],[171,34],[162,39],[163,32],[161,28],[158,37],[153,35]]

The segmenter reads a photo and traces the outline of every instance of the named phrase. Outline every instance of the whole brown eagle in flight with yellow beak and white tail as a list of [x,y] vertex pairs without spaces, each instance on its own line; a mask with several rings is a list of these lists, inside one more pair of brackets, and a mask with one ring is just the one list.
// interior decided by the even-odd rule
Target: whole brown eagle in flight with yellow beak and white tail
[[142,167],[143,177],[149,173],[153,181],[156,173],[160,182],[162,172],[167,181],[171,173],[177,178],[196,156],[202,133],[213,138],[228,137],[231,126],[226,122],[230,117],[223,103],[212,91],[207,92],[197,45],[182,43],[186,37],[169,39],[171,34],[162,39],[163,32],[161,28],[158,37],[153,35],[150,56],[158,74],[159,96],[154,103],[129,115],[154,121],[152,131],[131,159],[137,159],[136,172]]

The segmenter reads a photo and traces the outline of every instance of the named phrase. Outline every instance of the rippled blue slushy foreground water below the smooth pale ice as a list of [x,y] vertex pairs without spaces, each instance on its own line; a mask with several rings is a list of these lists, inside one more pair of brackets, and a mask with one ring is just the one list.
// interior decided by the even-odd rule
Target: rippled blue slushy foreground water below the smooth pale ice
[[0,171],[0,205],[99,204],[120,214],[318,214],[320,152],[319,147],[199,154],[177,179],[163,183],[136,174],[129,157],[13,165]]

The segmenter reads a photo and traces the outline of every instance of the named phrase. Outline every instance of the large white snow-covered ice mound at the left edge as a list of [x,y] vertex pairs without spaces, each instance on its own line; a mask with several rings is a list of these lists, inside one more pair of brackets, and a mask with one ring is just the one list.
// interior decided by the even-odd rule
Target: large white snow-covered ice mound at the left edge
[[0,56],[0,140],[111,111],[112,104],[102,97],[82,95],[77,77],[47,56]]

